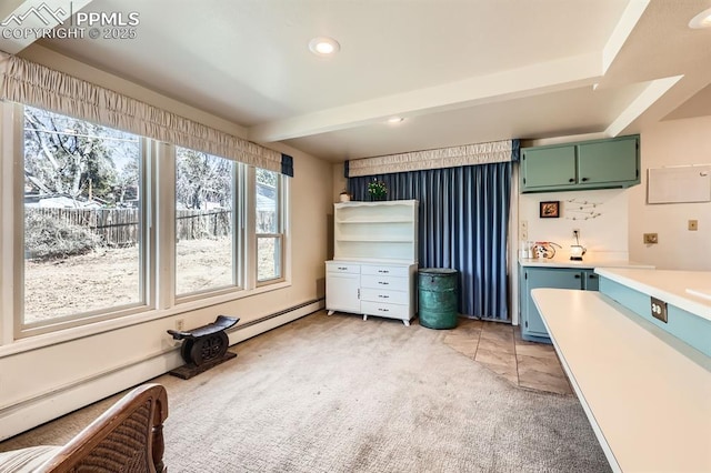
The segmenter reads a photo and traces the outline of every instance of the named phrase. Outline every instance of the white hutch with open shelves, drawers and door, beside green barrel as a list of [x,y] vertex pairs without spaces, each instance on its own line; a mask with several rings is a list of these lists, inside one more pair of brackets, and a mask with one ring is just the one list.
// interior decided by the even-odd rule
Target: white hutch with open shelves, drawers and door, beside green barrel
[[334,258],[326,262],[326,308],[410,325],[417,313],[418,202],[334,204]]

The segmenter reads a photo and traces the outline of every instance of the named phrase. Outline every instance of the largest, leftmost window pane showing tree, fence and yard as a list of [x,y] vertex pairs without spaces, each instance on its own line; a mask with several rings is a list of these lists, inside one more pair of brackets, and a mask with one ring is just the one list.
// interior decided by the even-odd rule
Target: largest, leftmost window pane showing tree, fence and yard
[[23,324],[143,303],[137,135],[24,108]]

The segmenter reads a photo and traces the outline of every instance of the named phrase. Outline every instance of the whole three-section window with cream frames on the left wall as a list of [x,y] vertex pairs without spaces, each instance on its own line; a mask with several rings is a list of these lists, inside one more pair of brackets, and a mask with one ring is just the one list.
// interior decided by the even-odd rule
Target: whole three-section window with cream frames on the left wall
[[2,262],[0,290],[19,288],[2,333],[159,318],[284,282],[280,173],[37,108],[0,112],[0,210],[14,225],[0,243],[19,255]]

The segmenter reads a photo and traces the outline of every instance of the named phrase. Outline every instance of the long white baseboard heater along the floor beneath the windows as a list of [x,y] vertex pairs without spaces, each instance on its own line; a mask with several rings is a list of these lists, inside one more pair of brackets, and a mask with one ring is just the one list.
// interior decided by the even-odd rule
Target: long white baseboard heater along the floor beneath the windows
[[[243,329],[238,325],[237,330],[229,334],[230,344],[239,343],[276,329],[323,309],[323,300],[312,301],[249,323]],[[21,404],[4,407],[0,410],[0,441],[144,383],[183,363],[180,358],[180,350],[174,349],[159,353],[139,363],[101,373],[74,384],[60,386],[52,391],[51,394],[37,396]],[[168,400],[168,403],[170,405],[170,400]]]

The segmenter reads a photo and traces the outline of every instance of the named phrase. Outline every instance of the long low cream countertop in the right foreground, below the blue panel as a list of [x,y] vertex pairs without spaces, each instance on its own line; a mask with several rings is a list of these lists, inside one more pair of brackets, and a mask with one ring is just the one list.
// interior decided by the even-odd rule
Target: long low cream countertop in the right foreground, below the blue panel
[[711,471],[709,356],[598,292],[531,294],[613,470]]

